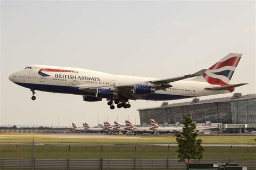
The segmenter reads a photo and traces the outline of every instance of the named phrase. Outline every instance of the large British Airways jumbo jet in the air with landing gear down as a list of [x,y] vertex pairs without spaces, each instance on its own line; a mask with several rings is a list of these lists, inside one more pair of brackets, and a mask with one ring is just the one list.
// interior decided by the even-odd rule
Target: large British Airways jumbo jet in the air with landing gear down
[[[247,83],[229,84],[242,54],[229,53],[208,69],[167,79],[113,75],[93,70],[31,65],[9,79],[32,91],[82,95],[87,102],[106,98],[110,109],[130,108],[129,100],[167,101],[231,93]],[[177,70],[175,70],[177,72]],[[192,78],[192,80],[185,80]]]

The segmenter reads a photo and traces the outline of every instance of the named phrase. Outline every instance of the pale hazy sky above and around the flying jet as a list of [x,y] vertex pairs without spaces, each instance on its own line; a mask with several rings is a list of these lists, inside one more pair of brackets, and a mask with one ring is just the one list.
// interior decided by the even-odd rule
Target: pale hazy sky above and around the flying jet
[[[230,83],[255,93],[255,2],[1,1],[0,124],[82,126],[108,117],[113,124],[138,108],[162,102],[131,101],[110,110],[106,101],[36,91],[8,76],[32,64],[69,66],[112,74],[173,77],[208,68],[230,52],[243,53]],[[200,97],[214,98],[232,94]],[[187,100],[169,101],[178,103]]]

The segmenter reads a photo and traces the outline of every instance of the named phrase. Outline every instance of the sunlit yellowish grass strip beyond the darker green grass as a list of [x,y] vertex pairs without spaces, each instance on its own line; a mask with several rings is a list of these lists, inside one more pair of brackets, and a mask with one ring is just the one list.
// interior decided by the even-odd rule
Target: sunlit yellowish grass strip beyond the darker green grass
[[[33,135],[31,136],[19,136],[11,135],[1,136],[0,143],[31,143],[32,139],[35,139],[36,143],[138,143],[138,144],[150,144],[150,143],[162,143],[162,144],[175,144],[176,139],[173,135],[170,136],[142,136],[140,138],[134,138],[133,136],[126,136],[122,138],[57,138],[53,136],[45,135]],[[203,144],[255,144],[256,136],[199,136],[203,140]]]

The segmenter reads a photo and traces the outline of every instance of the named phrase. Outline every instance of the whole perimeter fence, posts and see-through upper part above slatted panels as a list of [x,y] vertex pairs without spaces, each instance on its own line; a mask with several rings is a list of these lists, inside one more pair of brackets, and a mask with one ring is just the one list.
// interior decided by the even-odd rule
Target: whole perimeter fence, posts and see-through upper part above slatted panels
[[[177,148],[143,144],[0,145],[0,169],[185,169],[186,164],[178,162]],[[201,163],[233,162],[256,169],[256,147],[204,148],[206,159]]]

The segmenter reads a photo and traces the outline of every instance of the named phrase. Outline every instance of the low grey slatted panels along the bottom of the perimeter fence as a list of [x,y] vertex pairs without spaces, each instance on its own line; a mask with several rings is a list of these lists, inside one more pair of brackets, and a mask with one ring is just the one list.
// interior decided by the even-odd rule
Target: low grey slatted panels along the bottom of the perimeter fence
[[[185,169],[178,159],[10,159],[0,158],[0,168],[17,169]],[[255,169],[255,160],[203,159],[201,163],[232,162]],[[34,167],[33,167],[34,165]]]

